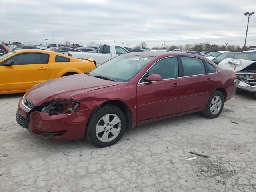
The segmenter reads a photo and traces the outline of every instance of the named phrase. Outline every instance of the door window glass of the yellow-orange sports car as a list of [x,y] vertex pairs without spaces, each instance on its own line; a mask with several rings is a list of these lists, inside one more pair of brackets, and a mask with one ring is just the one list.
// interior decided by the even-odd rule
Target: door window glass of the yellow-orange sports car
[[14,61],[14,65],[29,65],[29,64],[47,64],[48,63],[48,54],[42,53],[22,53],[12,58],[9,58],[8,61]]

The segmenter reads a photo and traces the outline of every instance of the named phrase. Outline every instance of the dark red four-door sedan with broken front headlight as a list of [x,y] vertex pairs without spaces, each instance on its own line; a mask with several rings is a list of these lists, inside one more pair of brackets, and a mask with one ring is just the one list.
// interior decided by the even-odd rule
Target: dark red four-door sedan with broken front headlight
[[17,122],[48,140],[87,137],[115,144],[126,128],[202,112],[216,118],[236,92],[236,76],[195,54],[132,52],[92,72],[49,80],[20,100]]

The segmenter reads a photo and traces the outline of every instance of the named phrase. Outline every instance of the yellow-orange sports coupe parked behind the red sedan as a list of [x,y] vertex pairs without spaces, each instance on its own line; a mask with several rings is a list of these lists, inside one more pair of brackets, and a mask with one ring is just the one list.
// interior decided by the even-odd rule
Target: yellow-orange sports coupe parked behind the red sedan
[[94,68],[96,64],[90,58],[75,59],[46,50],[16,50],[0,56],[0,94],[26,92],[46,80]]

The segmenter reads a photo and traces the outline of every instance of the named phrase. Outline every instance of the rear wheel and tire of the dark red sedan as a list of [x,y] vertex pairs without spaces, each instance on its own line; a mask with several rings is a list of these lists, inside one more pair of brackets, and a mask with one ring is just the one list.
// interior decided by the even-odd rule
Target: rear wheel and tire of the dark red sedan
[[214,91],[210,96],[202,115],[214,119],[220,115],[224,106],[224,97],[221,92]]

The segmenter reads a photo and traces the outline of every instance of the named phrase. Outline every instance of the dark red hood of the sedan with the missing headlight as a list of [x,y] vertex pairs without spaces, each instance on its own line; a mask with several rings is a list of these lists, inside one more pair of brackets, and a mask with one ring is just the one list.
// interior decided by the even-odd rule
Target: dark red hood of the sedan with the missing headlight
[[122,84],[88,76],[86,74],[77,74],[49,80],[37,84],[30,88],[25,97],[35,106],[52,99],[70,99],[84,92]]

